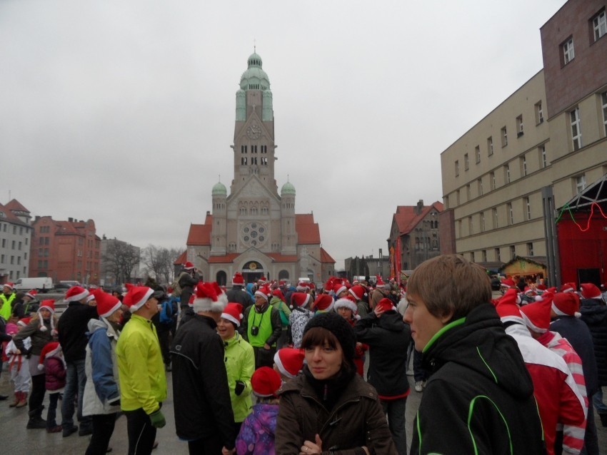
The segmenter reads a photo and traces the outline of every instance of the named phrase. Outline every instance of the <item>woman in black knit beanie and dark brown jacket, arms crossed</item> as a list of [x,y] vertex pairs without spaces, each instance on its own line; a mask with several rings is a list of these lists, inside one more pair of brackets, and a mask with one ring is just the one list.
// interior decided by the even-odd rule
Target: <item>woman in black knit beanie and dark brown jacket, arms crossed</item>
[[303,330],[302,373],[279,390],[276,454],[396,454],[377,392],[356,374],[346,319],[320,313]]

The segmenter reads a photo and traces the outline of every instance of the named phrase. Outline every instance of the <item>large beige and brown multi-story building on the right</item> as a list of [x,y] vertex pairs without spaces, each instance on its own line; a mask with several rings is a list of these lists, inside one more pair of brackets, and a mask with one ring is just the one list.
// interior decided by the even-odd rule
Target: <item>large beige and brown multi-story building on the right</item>
[[558,210],[606,175],[605,11],[604,0],[563,5],[541,28],[544,68],[441,153],[456,252],[550,262]]

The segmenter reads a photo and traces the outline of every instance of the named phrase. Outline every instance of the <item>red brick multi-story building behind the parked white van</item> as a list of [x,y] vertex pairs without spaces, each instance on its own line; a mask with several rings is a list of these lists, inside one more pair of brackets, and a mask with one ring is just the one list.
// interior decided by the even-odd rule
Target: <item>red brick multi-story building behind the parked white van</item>
[[36,216],[29,267],[33,277],[99,285],[99,243],[93,220],[56,221]]

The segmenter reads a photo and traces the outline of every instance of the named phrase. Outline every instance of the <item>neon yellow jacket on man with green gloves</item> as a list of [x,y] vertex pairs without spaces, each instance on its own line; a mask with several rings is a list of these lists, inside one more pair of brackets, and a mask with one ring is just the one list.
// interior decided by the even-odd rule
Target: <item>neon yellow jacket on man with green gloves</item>
[[132,315],[116,344],[123,411],[158,411],[166,399],[166,376],[156,328],[148,319]]

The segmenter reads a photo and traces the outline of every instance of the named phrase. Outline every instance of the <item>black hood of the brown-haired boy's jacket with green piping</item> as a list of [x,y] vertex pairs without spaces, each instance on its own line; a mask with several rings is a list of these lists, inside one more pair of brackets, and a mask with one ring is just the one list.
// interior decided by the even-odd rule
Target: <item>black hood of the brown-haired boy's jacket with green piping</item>
[[456,362],[496,382],[514,397],[526,398],[533,393],[518,345],[506,334],[490,303],[479,305],[438,333],[423,352],[423,362],[431,371]]

